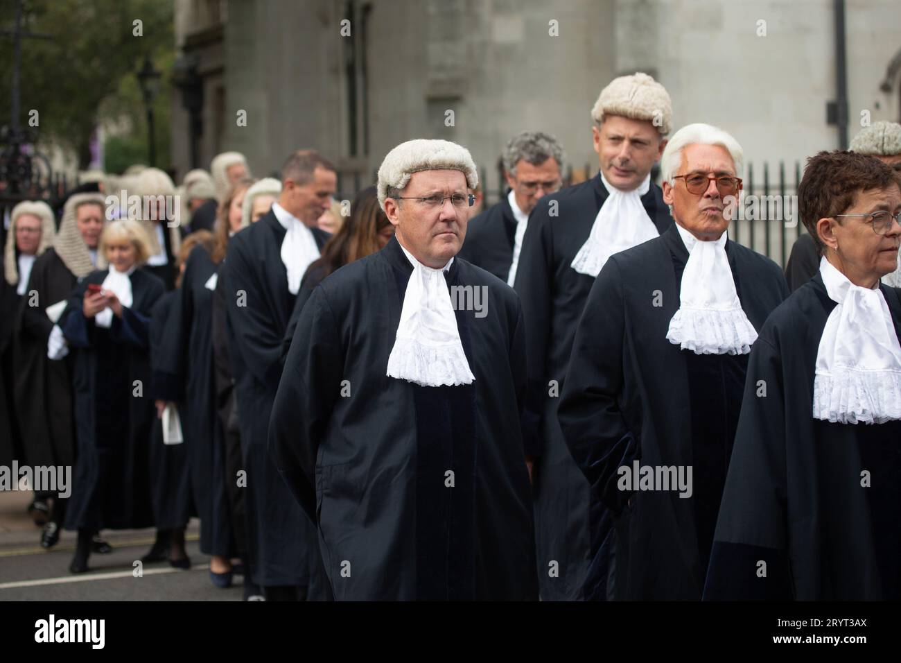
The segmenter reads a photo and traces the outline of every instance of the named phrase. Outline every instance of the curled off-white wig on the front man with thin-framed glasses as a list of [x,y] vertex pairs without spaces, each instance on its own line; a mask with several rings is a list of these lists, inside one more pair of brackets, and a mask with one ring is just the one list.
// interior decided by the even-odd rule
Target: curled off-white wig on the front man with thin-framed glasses
[[388,189],[404,189],[420,170],[460,170],[469,189],[478,187],[478,170],[469,150],[451,141],[417,138],[397,145],[378,168],[378,204],[383,212]]

